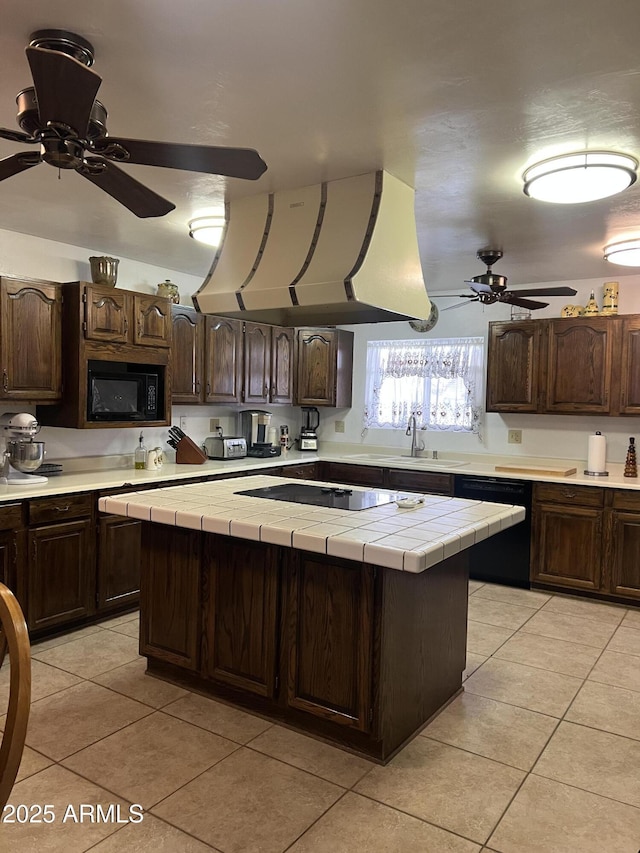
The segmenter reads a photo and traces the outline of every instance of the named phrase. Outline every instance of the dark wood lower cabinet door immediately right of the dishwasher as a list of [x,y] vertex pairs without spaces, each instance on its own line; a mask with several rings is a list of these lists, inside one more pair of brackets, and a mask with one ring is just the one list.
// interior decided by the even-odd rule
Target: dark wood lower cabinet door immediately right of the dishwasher
[[593,507],[534,505],[531,579],[572,589],[599,589],[602,517],[602,510]]

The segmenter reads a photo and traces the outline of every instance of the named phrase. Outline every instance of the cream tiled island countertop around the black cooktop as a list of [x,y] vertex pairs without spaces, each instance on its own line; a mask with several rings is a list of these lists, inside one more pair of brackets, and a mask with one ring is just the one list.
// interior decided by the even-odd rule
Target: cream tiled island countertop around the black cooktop
[[[284,478],[256,475],[241,480],[173,485],[100,498],[98,506],[102,512],[115,515],[364,560],[414,573],[423,572],[525,517],[523,507],[442,495],[425,495],[424,503],[412,509],[389,503],[351,512],[237,494],[283,482]],[[315,485],[312,480],[295,482]]]

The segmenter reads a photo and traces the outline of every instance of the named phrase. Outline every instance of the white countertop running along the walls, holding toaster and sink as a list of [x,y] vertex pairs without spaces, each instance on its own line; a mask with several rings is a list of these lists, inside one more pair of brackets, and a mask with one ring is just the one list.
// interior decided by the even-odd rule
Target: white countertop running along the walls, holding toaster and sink
[[[365,452],[368,451],[368,452]],[[0,505],[25,498],[54,497],[72,492],[87,492],[96,490],[119,489],[137,485],[152,485],[154,483],[176,483],[180,480],[194,477],[220,476],[237,472],[267,472],[269,468],[279,468],[286,465],[299,465],[305,462],[342,462],[352,465],[371,465],[385,468],[402,468],[408,471],[431,471],[443,474],[474,474],[482,477],[498,477],[500,479],[534,480],[548,483],[579,484],[584,486],[603,486],[605,488],[640,489],[640,478],[624,477],[624,465],[607,462],[608,477],[590,477],[585,475],[584,460],[567,461],[558,459],[541,459],[537,457],[488,456],[486,454],[440,454],[433,460],[403,457],[401,450],[391,448],[363,448],[358,445],[338,445],[327,443],[318,453],[290,451],[286,456],[273,459],[255,459],[246,457],[238,460],[209,460],[203,465],[165,464],[161,471],[136,471],[133,468],[122,467],[122,457],[117,457],[109,466],[112,457],[95,457],[84,460],[60,460],[69,468],[69,473],[58,474],[49,478],[47,483],[33,486],[0,485]],[[53,460],[55,461],[55,460]],[[561,467],[566,462],[567,467],[577,468],[576,474],[567,477],[558,475],[509,473],[496,471],[496,465],[530,465],[531,467]],[[76,470],[71,470],[71,468]],[[81,470],[78,470],[78,469]]]

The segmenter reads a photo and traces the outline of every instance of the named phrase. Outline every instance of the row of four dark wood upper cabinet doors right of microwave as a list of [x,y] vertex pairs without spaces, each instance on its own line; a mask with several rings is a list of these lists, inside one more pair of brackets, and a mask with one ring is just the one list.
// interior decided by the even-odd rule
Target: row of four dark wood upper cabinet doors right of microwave
[[173,307],[174,404],[292,403],[294,330]]

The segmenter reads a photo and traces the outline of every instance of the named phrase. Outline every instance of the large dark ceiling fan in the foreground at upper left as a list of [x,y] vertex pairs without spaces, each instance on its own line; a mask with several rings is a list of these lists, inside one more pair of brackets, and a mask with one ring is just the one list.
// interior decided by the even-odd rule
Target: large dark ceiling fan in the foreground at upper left
[[164,216],[175,208],[115,163],[163,166],[256,180],[267,166],[250,148],[123,139],[107,133],[107,110],[96,99],[102,78],[92,71],[93,46],[67,30],[38,30],[26,49],[33,87],[16,96],[23,132],[0,128],[0,138],[37,144],[0,160],[0,181],[48,163],[74,169],[139,217]]

